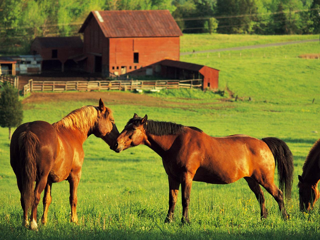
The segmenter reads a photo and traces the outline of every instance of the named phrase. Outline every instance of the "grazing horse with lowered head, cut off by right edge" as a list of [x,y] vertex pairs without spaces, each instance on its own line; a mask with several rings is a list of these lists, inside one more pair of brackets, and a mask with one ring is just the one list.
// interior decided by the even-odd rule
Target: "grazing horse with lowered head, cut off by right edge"
[[310,149],[303,164],[302,175],[299,175],[298,178],[300,210],[310,211],[320,196],[318,190],[320,180],[320,139]]

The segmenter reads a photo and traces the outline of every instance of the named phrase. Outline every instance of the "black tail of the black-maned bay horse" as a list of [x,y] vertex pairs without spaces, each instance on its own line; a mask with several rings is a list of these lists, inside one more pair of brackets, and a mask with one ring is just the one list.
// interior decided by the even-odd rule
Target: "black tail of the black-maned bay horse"
[[285,189],[285,196],[291,198],[293,182],[293,156],[288,145],[278,138],[263,138],[270,148],[275,164],[278,165],[278,180],[281,191]]

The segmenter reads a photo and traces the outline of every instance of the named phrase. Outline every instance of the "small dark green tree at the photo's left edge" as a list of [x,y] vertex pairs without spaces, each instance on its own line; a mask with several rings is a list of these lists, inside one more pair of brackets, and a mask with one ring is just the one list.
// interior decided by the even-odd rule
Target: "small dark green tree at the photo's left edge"
[[11,128],[19,126],[22,117],[22,104],[19,101],[18,90],[4,83],[0,96],[0,126],[9,128],[9,140],[11,140]]

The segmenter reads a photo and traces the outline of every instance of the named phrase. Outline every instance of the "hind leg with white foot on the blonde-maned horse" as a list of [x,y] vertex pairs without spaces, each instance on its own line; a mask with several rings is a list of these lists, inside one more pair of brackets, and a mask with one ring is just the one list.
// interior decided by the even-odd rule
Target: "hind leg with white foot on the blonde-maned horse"
[[44,190],[48,180],[48,175],[46,176],[41,176],[39,181],[36,182],[36,187],[35,187],[35,192],[34,192],[34,202],[33,206],[31,208],[31,222],[30,222],[30,229],[31,230],[37,230],[38,229],[38,224],[37,224],[37,207],[40,202],[40,196],[42,191]]

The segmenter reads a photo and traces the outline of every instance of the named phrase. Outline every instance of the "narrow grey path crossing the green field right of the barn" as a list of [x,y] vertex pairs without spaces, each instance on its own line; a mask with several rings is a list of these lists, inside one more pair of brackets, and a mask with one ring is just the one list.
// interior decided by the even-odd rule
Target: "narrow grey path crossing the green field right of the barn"
[[181,52],[181,53],[180,53],[180,56],[188,55],[188,54],[192,54],[192,53],[237,51],[237,50],[244,50],[244,49],[255,49],[255,48],[263,48],[263,47],[274,47],[274,46],[282,46],[282,45],[288,45],[288,44],[309,43],[309,42],[319,42],[319,39],[310,39],[310,40],[301,40],[301,41],[292,41],[292,42],[283,42],[283,43],[269,43],[269,44],[260,44],[260,45],[252,45],[252,46],[220,48],[220,49],[212,49],[212,50],[204,50],[204,51],[195,51],[195,52]]

